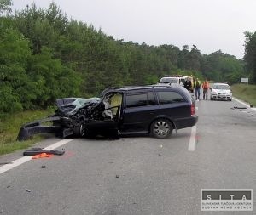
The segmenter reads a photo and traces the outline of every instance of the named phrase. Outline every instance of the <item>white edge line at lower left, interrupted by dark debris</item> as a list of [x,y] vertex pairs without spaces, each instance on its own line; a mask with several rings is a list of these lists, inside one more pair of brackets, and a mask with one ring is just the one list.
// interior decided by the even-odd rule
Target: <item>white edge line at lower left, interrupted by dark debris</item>
[[[48,147],[44,148],[44,150],[54,150],[63,144],[67,144],[67,143],[71,142],[72,140],[73,139],[62,139],[61,141],[58,141],[57,143],[51,144]],[[27,161],[31,161],[31,160],[32,160],[32,156],[24,156],[15,161],[12,161],[9,164],[5,164],[2,167],[0,167],[0,174],[5,173],[6,171],[9,171],[10,169],[18,167],[21,164],[23,164]]]

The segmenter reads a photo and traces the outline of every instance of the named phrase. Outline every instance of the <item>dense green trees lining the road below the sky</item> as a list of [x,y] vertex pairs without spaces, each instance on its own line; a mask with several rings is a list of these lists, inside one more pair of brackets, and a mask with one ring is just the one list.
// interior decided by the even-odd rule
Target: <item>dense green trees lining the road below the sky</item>
[[0,116],[45,108],[58,98],[96,96],[108,87],[156,83],[166,74],[230,83],[254,74],[256,82],[255,33],[246,35],[244,61],[221,50],[201,54],[195,45],[116,40],[69,19],[55,3],[33,3],[14,14],[11,4],[0,0]]

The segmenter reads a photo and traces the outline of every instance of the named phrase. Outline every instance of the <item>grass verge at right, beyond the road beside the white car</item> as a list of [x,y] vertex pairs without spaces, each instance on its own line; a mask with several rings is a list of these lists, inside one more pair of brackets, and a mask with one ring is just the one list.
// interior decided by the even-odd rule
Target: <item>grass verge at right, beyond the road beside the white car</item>
[[231,86],[233,96],[256,106],[256,85],[235,84]]

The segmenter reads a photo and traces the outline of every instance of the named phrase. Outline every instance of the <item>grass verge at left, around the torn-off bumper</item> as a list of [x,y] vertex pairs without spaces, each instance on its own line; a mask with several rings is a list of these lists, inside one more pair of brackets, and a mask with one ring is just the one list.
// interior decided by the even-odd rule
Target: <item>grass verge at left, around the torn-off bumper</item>
[[0,155],[8,154],[15,150],[26,149],[43,139],[40,135],[36,135],[27,141],[16,141],[20,127],[23,124],[42,119],[53,114],[54,111],[54,108],[49,108],[48,110],[24,111],[7,116],[5,119],[0,119]]

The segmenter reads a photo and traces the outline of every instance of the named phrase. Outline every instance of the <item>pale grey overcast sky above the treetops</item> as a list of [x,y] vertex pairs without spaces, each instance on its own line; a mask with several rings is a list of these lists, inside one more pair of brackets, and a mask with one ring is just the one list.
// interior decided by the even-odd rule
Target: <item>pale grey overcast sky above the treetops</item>
[[[33,2],[48,8],[52,0],[13,0],[15,9]],[[148,45],[193,44],[201,54],[221,49],[241,59],[244,31],[256,31],[256,0],[55,0],[69,18],[102,28],[125,42]]]

